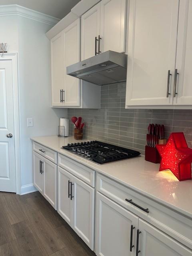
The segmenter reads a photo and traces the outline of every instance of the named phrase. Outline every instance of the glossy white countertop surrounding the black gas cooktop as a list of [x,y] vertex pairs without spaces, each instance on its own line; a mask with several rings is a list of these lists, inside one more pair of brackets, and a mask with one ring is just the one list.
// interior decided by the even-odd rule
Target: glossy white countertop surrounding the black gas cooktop
[[[31,139],[192,219],[192,180],[180,182],[170,171],[159,172],[159,164],[145,161],[144,156],[98,165],[61,149],[68,143],[77,142],[72,136]],[[78,140],[78,142],[84,141],[87,140]]]

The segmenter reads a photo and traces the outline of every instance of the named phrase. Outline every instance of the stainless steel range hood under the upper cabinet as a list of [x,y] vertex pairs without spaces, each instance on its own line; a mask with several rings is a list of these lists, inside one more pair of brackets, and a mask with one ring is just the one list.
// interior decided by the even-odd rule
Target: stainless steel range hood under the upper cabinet
[[98,85],[126,81],[127,55],[107,51],[67,67],[67,74]]

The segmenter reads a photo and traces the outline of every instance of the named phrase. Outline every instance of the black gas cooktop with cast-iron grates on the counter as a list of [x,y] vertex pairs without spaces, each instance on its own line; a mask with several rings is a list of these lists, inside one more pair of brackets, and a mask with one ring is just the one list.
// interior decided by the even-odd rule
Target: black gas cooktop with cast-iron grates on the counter
[[105,164],[140,155],[140,152],[138,151],[121,148],[97,140],[71,143],[67,146],[62,146],[62,149],[68,150],[97,164]]

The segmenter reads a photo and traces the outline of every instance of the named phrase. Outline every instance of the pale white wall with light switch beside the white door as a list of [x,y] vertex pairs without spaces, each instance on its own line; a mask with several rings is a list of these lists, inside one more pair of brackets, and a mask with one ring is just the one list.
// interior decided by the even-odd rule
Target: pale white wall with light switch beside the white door
[[[32,184],[32,143],[30,137],[57,134],[59,118],[66,109],[51,108],[50,25],[20,16],[0,17],[0,41],[8,52],[18,52],[21,185]],[[27,127],[27,118],[34,126]]]

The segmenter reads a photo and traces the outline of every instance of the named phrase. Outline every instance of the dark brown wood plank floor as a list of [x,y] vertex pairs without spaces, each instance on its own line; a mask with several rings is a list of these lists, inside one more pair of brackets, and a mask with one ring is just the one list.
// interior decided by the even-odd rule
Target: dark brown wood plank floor
[[95,256],[39,192],[0,192],[0,256]]

